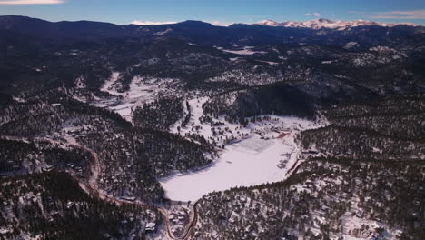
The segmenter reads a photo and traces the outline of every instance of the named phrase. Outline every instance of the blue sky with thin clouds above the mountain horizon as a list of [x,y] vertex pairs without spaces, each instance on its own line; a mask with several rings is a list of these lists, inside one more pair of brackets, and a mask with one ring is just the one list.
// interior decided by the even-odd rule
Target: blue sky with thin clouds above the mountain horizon
[[0,15],[48,21],[90,20],[114,24],[161,24],[201,20],[214,25],[264,19],[371,20],[425,25],[424,0],[0,0]]

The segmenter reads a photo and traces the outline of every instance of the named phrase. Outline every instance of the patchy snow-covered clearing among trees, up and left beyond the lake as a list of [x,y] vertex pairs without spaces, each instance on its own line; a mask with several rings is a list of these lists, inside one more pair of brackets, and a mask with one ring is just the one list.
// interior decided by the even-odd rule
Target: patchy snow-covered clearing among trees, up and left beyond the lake
[[133,110],[138,105],[149,103],[160,95],[173,95],[178,89],[178,81],[171,78],[154,78],[134,76],[130,83],[130,89],[126,92],[118,92],[117,85],[120,73],[114,72],[104,83],[101,91],[107,92],[114,97],[101,99],[94,103],[98,107],[106,107],[120,115],[126,120],[132,121]]

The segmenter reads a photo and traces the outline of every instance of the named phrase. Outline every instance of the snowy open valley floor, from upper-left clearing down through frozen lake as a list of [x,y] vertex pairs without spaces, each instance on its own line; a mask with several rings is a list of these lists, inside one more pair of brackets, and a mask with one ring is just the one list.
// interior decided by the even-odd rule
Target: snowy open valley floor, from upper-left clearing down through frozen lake
[[[158,97],[177,95],[173,91],[164,92],[172,86],[163,87],[163,81],[159,79],[136,85],[135,82],[141,80],[139,77],[134,77],[128,92],[118,93],[114,87],[118,75],[119,73],[111,75],[111,80],[108,80],[101,90],[111,95],[123,96],[118,100],[120,105],[104,105],[104,107],[122,115],[125,119],[133,118],[133,109],[137,106],[152,102]],[[165,197],[172,201],[193,203],[211,192],[284,180],[288,170],[299,160],[304,160],[301,159],[300,143],[295,141],[297,135],[303,130],[324,126],[323,122],[326,122],[323,119],[320,123],[319,120],[309,121],[279,115],[252,116],[248,118],[249,123],[245,126],[226,121],[224,115],[205,122],[203,120],[207,115],[203,113],[203,105],[208,101],[207,96],[183,100],[185,117],[177,120],[169,131],[197,143],[199,141],[193,139],[191,135],[203,137],[206,143],[216,145],[217,156],[210,165],[193,169],[189,173],[176,173],[160,178],[159,182],[165,191]],[[98,103],[94,105],[103,106]],[[123,111],[124,109],[128,111]],[[183,126],[184,121],[186,123]]]

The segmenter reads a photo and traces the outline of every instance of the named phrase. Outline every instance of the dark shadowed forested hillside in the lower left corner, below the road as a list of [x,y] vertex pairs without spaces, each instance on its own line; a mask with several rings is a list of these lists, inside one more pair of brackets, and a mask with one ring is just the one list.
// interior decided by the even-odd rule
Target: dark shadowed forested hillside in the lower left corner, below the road
[[144,226],[161,221],[155,210],[95,199],[62,172],[1,178],[0,190],[3,239],[145,239]]

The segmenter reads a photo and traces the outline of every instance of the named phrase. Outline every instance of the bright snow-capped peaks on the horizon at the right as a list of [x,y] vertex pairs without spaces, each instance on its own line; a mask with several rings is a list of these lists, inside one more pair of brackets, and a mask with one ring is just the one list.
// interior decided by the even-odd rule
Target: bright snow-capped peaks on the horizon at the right
[[321,29],[321,28],[331,28],[344,30],[349,27],[361,26],[361,25],[379,25],[379,26],[395,26],[395,25],[412,25],[412,24],[387,24],[387,23],[378,23],[368,20],[356,20],[356,21],[332,21],[325,18],[314,19],[306,22],[295,22],[295,21],[286,21],[278,23],[272,20],[263,20],[254,25],[269,25],[269,26],[285,26],[285,27],[305,27],[312,29]]

